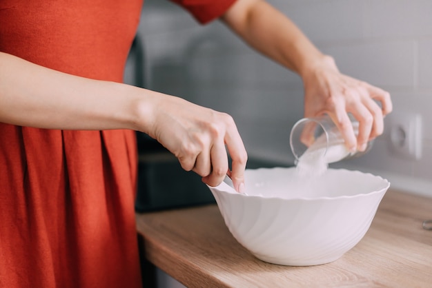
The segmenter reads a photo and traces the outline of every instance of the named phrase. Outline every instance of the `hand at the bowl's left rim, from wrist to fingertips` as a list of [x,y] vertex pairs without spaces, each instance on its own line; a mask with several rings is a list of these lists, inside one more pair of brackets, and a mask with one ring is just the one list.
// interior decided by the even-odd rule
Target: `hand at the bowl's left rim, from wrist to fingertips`
[[247,153],[230,115],[165,94],[157,96],[154,107],[147,133],[170,150],[183,169],[217,186],[229,172],[228,149],[230,177],[235,189],[243,192]]

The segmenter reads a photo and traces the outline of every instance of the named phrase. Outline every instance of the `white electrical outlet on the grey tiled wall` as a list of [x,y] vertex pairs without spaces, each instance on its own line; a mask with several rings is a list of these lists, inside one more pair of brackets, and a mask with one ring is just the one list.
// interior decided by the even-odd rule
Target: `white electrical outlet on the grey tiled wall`
[[412,112],[392,112],[386,117],[390,150],[395,156],[422,158],[422,116]]

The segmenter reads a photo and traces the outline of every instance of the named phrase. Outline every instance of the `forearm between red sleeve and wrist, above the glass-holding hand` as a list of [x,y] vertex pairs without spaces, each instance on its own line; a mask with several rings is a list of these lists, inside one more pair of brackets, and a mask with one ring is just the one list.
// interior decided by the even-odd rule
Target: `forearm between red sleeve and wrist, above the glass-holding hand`
[[320,61],[333,61],[265,1],[239,0],[222,20],[253,48],[301,76]]

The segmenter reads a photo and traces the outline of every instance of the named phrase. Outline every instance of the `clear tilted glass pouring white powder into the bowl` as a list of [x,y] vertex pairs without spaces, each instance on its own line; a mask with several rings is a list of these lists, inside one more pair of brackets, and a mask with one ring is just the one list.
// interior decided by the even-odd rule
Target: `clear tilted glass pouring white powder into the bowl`
[[[359,123],[350,116],[355,135],[358,134]],[[369,141],[364,152],[350,152],[346,149],[344,138],[330,116],[300,119],[293,125],[290,134],[291,151],[296,163],[308,151],[321,154],[326,163],[335,163],[346,158],[366,154],[371,149],[373,141]]]

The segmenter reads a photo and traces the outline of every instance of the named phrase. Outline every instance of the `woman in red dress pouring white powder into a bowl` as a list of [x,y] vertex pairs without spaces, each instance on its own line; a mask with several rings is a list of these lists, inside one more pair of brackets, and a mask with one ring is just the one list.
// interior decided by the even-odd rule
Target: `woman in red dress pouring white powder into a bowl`
[[[175,2],[202,23],[220,17],[299,73],[305,116],[328,113],[351,149],[382,134],[389,94],[340,74],[264,1]],[[246,150],[229,115],[121,84],[141,5],[0,3],[1,287],[141,286],[133,130],[157,139],[208,185],[228,171],[227,147],[228,172],[244,189]],[[360,121],[357,138],[348,112]]]

